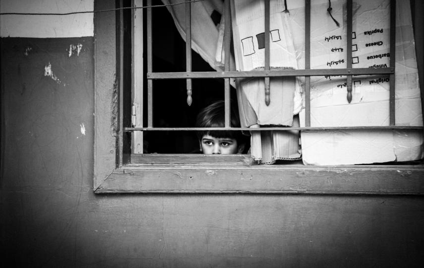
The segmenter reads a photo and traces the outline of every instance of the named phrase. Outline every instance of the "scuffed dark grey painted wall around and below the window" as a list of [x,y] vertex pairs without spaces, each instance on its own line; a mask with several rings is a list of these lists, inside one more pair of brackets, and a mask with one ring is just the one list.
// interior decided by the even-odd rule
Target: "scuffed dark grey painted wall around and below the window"
[[421,197],[94,195],[93,36],[15,36],[1,38],[3,267],[421,267]]

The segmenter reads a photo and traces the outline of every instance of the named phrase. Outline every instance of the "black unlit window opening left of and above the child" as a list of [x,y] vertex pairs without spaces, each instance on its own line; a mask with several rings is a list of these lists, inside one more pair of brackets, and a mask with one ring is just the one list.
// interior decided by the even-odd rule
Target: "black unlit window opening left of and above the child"
[[[144,32],[146,29],[146,9]],[[126,14],[125,14],[126,15]],[[131,20],[131,14],[125,16]],[[178,32],[174,20],[166,7],[152,8],[153,72],[185,71],[185,42]],[[144,38],[144,48],[147,40]],[[128,42],[131,44],[130,42]],[[126,48],[127,51],[131,51]],[[215,71],[199,54],[191,50],[192,71]],[[128,64],[129,63],[129,64]],[[131,57],[127,67],[131,67]],[[147,50],[143,51],[144,71],[147,70]],[[129,69],[130,70],[130,69]],[[127,73],[131,73],[128,71]],[[129,78],[129,81],[131,79]],[[186,103],[185,79],[158,79],[153,81],[153,126],[156,128],[194,127],[199,111],[209,104],[224,100],[224,79],[192,79],[191,106]],[[127,85],[130,88],[130,85]],[[128,88],[128,87],[127,87]],[[147,79],[143,79],[143,122],[147,122]],[[236,89],[231,87],[231,99],[237,105]],[[194,153],[199,150],[199,141],[194,131],[144,132],[144,153]]]

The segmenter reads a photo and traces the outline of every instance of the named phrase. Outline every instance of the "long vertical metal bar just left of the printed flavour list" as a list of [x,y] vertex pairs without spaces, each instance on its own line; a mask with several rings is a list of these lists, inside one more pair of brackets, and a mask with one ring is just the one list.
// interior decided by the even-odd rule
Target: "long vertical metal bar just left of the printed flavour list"
[[[310,69],[310,0],[305,0],[305,69]],[[310,127],[310,76],[305,76],[305,127]]]

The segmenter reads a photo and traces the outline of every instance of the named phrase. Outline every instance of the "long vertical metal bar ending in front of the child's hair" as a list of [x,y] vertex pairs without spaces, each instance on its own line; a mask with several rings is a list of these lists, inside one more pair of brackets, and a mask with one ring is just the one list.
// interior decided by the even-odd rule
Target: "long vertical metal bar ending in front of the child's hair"
[[[224,7],[224,57],[225,71],[230,70],[230,40],[231,40],[231,16],[230,16],[230,0],[225,1]],[[224,99],[225,99],[225,127],[231,127],[231,107],[230,107],[230,78],[224,79]]]

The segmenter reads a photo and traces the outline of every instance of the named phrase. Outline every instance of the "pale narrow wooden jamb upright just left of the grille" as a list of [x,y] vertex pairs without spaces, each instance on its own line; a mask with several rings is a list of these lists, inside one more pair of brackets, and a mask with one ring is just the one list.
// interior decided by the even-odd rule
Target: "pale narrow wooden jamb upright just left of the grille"
[[[143,0],[133,0],[134,7],[143,6]],[[132,125],[143,127],[143,9],[132,11],[132,103],[135,120]],[[143,153],[143,132],[132,133],[132,152]]]

